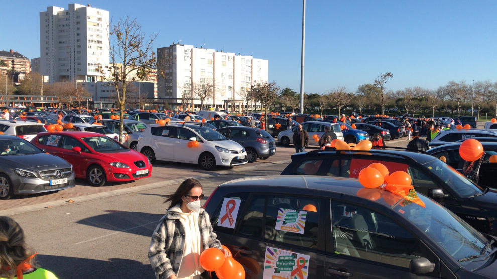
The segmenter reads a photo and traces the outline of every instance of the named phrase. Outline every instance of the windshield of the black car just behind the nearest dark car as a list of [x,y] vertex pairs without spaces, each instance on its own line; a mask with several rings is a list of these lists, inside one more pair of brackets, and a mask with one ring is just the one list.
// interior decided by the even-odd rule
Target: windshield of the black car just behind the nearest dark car
[[435,176],[442,179],[447,186],[462,198],[481,195],[484,192],[478,185],[457,173],[454,169],[438,159],[424,163],[423,165]]

